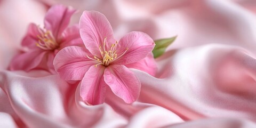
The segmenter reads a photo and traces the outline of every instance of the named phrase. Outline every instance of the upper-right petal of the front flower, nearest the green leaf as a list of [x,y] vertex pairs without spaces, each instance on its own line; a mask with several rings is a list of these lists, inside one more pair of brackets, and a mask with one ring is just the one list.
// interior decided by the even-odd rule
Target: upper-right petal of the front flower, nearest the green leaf
[[126,65],[137,62],[146,58],[154,49],[154,46],[155,43],[153,39],[151,39],[147,34],[139,31],[132,31],[120,39],[116,49],[117,57],[118,55],[122,55],[126,48],[128,48],[128,50],[120,59],[114,61],[114,63],[117,65]]

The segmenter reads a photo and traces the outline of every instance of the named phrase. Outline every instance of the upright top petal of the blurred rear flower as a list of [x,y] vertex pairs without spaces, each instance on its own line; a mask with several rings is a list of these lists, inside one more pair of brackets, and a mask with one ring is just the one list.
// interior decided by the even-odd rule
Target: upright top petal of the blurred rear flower
[[54,5],[45,14],[44,26],[47,30],[52,31],[54,37],[59,39],[75,12],[76,10],[66,6]]

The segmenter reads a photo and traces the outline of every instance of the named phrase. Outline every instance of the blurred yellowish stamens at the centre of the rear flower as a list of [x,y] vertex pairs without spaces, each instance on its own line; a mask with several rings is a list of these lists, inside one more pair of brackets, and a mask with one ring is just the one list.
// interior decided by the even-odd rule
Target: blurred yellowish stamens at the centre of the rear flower
[[38,27],[38,31],[40,34],[37,35],[38,42],[36,43],[36,46],[43,50],[55,50],[59,47],[59,44],[56,42],[56,39],[50,30],[46,30],[45,28],[42,30]]

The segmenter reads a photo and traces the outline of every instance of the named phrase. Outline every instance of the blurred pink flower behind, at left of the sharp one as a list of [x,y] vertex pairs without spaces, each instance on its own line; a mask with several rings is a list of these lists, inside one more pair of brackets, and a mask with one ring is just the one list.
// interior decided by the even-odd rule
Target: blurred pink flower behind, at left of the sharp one
[[21,43],[28,50],[13,58],[10,70],[44,69],[55,73],[53,59],[57,52],[66,46],[82,44],[78,25],[67,28],[75,11],[55,5],[45,15],[44,28],[31,23]]

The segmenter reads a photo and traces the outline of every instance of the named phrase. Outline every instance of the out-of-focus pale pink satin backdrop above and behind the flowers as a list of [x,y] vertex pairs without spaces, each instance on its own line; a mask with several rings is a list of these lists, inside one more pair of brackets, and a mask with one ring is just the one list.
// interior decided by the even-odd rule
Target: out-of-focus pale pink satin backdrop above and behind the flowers
[[[169,49],[220,43],[253,50],[256,40],[255,4],[253,0],[1,0],[0,51],[5,69],[19,49],[30,22],[43,25],[44,14],[51,5],[64,4],[78,10],[71,24],[78,23],[84,10],[106,15],[118,39],[129,31],[143,31],[153,39],[178,35]],[[253,50],[254,51],[254,50]]]

